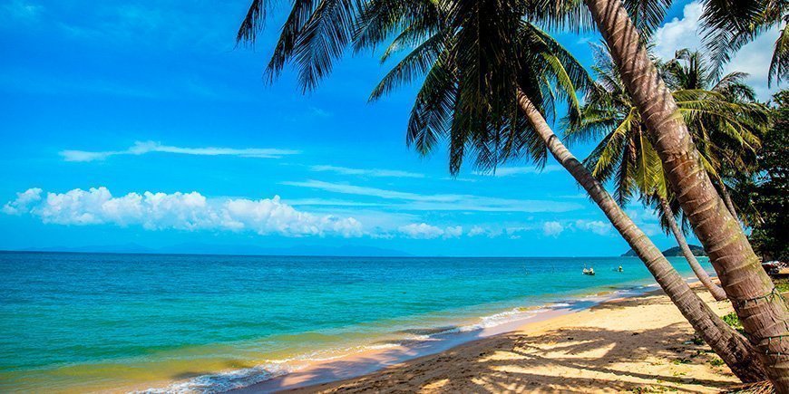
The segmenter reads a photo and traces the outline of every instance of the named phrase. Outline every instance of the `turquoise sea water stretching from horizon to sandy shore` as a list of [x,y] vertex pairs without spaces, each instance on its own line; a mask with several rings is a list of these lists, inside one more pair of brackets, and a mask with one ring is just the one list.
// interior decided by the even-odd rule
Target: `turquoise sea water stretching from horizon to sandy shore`
[[257,381],[278,372],[272,360],[646,283],[627,257],[0,253],[0,391],[167,387],[244,369]]

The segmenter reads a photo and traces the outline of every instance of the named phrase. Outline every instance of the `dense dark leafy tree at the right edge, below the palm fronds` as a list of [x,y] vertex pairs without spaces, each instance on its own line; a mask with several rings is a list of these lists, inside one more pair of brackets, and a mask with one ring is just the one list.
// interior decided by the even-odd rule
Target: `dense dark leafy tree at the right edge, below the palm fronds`
[[773,127],[762,139],[749,197],[758,219],[751,245],[766,259],[789,261],[789,91],[774,95]]

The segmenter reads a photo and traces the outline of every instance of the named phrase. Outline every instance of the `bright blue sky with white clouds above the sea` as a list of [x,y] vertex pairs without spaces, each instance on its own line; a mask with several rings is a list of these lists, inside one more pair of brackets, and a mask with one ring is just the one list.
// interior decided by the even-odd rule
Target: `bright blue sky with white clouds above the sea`
[[[255,48],[236,47],[247,7],[0,0],[0,249],[628,250],[552,159],[542,170],[512,162],[495,174],[466,166],[453,178],[444,151],[422,158],[408,149],[416,86],[366,100],[392,65],[380,64],[380,51],[346,56],[306,95],[290,68],[264,82],[283,15]],[[655,53],[700,47],[700,10],[673,5]],[[590,65],[598,35],[555,36]],[[727,66],[751,73],[763,100],[775,36]],[[584,158],[590,146],[571,149]],[[659,247],[675,245],[651,209],[636,201],[627,211]]]

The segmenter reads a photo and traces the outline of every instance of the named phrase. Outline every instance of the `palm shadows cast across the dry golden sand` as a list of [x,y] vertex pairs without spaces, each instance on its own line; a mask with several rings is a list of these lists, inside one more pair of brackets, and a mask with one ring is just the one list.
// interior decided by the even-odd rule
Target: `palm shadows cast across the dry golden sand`
[[[638,341],[623,341],[634,335]],[[730,386],[732,380],[724,374],[720,379],[693,378],[693,371],[706,369],[714,356],[691,338],[685,324],[641,332],[580,327],[535,336],[511,333],[362,378],[295,391],[714,392]],[[659,366],[639,371],[634,360],[654,360]],[[329,363],[320,373],[343,379],[341,372],[353,368],[346,362]]]

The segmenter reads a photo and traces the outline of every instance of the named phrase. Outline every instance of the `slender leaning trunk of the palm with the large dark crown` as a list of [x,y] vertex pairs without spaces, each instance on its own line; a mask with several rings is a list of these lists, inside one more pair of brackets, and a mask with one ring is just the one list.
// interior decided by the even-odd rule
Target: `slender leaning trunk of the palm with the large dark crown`
[[668,294],[671,301],[677,305],[679,311],[696,332],[726,362],[726,365],[735,372],[740,380],[745,382],[764,380],[765,372],[753,357],[754,347],[739,332],[729,327],[715,312],[712,312],[696,293],[693,293],[687,282],[668,263],[657,246],[652,244],[647,235],[633,223],[599,181],[592,177],[589,170],[583,167],[580,161],[570,153],[570,150],[561,143],[550,130],[550,126],[540,111],[534,107],[521,90],[518,91],[518,103],[553,157],[570,172],[603,213],[609,217],[611,224],[617,228],[619,234],[644,261],[649,272],[655,276],[657,283]]

